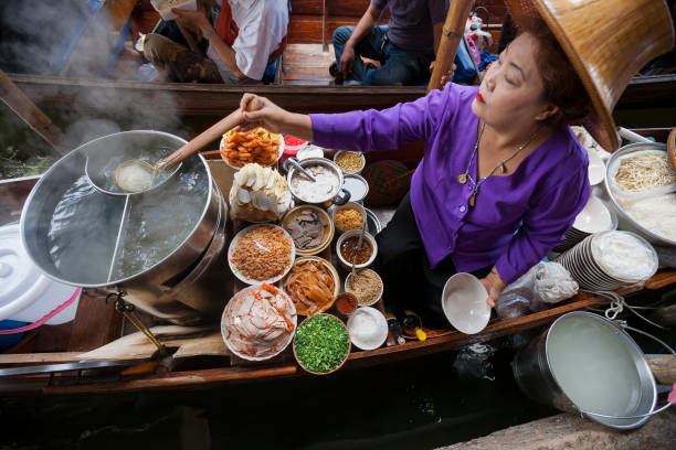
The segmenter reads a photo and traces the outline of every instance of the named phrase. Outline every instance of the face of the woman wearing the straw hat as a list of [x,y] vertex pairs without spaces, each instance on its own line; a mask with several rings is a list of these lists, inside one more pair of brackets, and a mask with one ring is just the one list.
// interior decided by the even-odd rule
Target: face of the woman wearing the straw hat
[[515,39],[494,62],[472,103],[472,111],[496,129],[532,127],[553,106],[542,99],[545,85],[536,65],[538,43],[529,33]]

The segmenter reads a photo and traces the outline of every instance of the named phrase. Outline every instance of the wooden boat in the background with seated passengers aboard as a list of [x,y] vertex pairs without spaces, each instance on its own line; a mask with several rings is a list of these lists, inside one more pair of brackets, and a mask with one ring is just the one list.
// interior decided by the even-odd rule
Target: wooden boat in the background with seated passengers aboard
[[[103,3],[109,7],[109,23],[114,34],[149,32],[159,18],[147,0],[138,3]],[[505,6],[499,0],[482,3],[489,11],[488,30],[497,42]],[[339,25],[355,25],[368,4],[368,0],[294,0],[288,28],[289,50],[284,64],[287,74],[277,85],[234,87],[192,83],[140,83],[133,81],[137,79],[135,75],[124,79],[125,76],[120,74],[124,72],[124,64],[115,65],[109,57],[87,62],[96,66],[96,69],[89,73],[106,73],[108,79],[93,76],[87,76],[86,79],[75,78],[72,75],[73,67],[81,64],[77,57],[78,46],[75,43],[68,47],[72,56],[60,63],[56,72],[52,72],[55,75],[8,75],[40,108],[71,109],[73,105],[77,105],[78,110],[98,113],[127,111],[129,107],[142,107],[146,110],[171,108],[170,110],[178,115],[224,116],[239,106],[244,92],[267,96],[279,106],[298,113],[385,108],[423,96],[424,86],[328,86],[330,76],[327,67],[332,61],[329,45],[332,32]],[[384,22],[387,11],[383,15]],[[83,32],[83,35],[86,34],[87,30]],[[112,43],[110,47],[110,52],[120,52],[119,42]],[[127,56],[138,58],[138,55]],[[124,51],[119,60],[124,62]],[[139,101],[139,98],[142,101]],[[630,82],[619,106],[670,106],[675,99],[676,74],[637,76]]]

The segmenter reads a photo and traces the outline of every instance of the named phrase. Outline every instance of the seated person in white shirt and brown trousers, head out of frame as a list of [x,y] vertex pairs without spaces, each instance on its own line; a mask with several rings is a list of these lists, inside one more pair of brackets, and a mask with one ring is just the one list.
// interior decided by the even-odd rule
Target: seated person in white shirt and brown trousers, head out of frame
[[172,12],[183,29],[194,30],[209,43],[207,54],[163,35],[148,34],[144,44],[148,61],[170,82],[260,83],[268,63],[286,46],[286,0],[199,2],[198,11]]

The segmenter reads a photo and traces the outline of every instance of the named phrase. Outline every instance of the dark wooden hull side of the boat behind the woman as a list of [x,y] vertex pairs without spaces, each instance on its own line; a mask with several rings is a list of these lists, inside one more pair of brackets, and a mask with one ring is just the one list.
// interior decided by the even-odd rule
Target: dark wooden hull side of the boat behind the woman
[[[344,113],[382,109],[413,101],[424,87],[319,87],[319,86],[225,86],[123,81],[81,81],[53,76],[9,74],[40,108],[78,111],[127,113],[172,111],[182,116],[226,116],[240,105],[244,93],[268,97],[296,113]],[[619,106],[670,105],[676,100],[676,75],[632,79]]]

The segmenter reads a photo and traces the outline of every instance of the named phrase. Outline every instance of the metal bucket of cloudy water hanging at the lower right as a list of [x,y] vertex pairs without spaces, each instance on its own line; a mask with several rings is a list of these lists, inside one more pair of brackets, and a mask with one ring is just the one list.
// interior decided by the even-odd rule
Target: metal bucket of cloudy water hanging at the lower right
[[[592,344],[601,342],[603,344],[598,349],[603,347],[604,352],[596,352],[598,349]],[[562,363],[579,362],[574,355],[589,355],[590,363],[585,366],[566,366]],[[631,390],[599,393],[596,389],[583,393],[580,386],[593,389],[595,383],[612,390],[609,386],[614,385],[612,379],[600,379],[596,375],[602,373],[599,369],[602,365],[605,367],[601,368],[608,369],[611,364],[617,364],[616,361],[623,362],[626,368],[617,371],[615,375],[626,378]],[[563,411],[584,414],[612,428],[640,427],[652,414],[657,413],[655,379],[643,352],[617,324],[591,312],[575,311],[557,319],[549,330],[519,350],[514,358],[513,371],[517,384],[531,399]],[[569,374],[573,374],[572,377]],[[573,383],[575,377],[583,379]],[[608,401],[611,395],[616,396],[613,401],[625,395],[626,403],[619,399],[617,405],[593,406],[596,400],[594,396],[600,394],[608,395],[602,396],[599,403]],[[599,408],[602,410],[593,410]],[[617,410],[608,410],[613,408]]]

